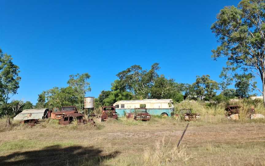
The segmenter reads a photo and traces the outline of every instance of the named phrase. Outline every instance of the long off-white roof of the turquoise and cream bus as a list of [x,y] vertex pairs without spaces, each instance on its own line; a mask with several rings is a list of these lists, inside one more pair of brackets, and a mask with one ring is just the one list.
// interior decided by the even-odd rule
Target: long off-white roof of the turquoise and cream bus
[[117,101],[116,104],[147,104],[147,103],[172,103],[172,99],[144,99],[144,100],[121,100]]

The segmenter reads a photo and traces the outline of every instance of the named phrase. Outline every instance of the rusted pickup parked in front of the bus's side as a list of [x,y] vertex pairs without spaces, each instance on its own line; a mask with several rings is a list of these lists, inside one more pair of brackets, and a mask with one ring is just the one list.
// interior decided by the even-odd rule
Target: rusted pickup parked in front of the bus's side
[[146,108],[134,108],[130,113],[126,113],[126,118],[133,118],[134,120],[149,121],[151,115]]

